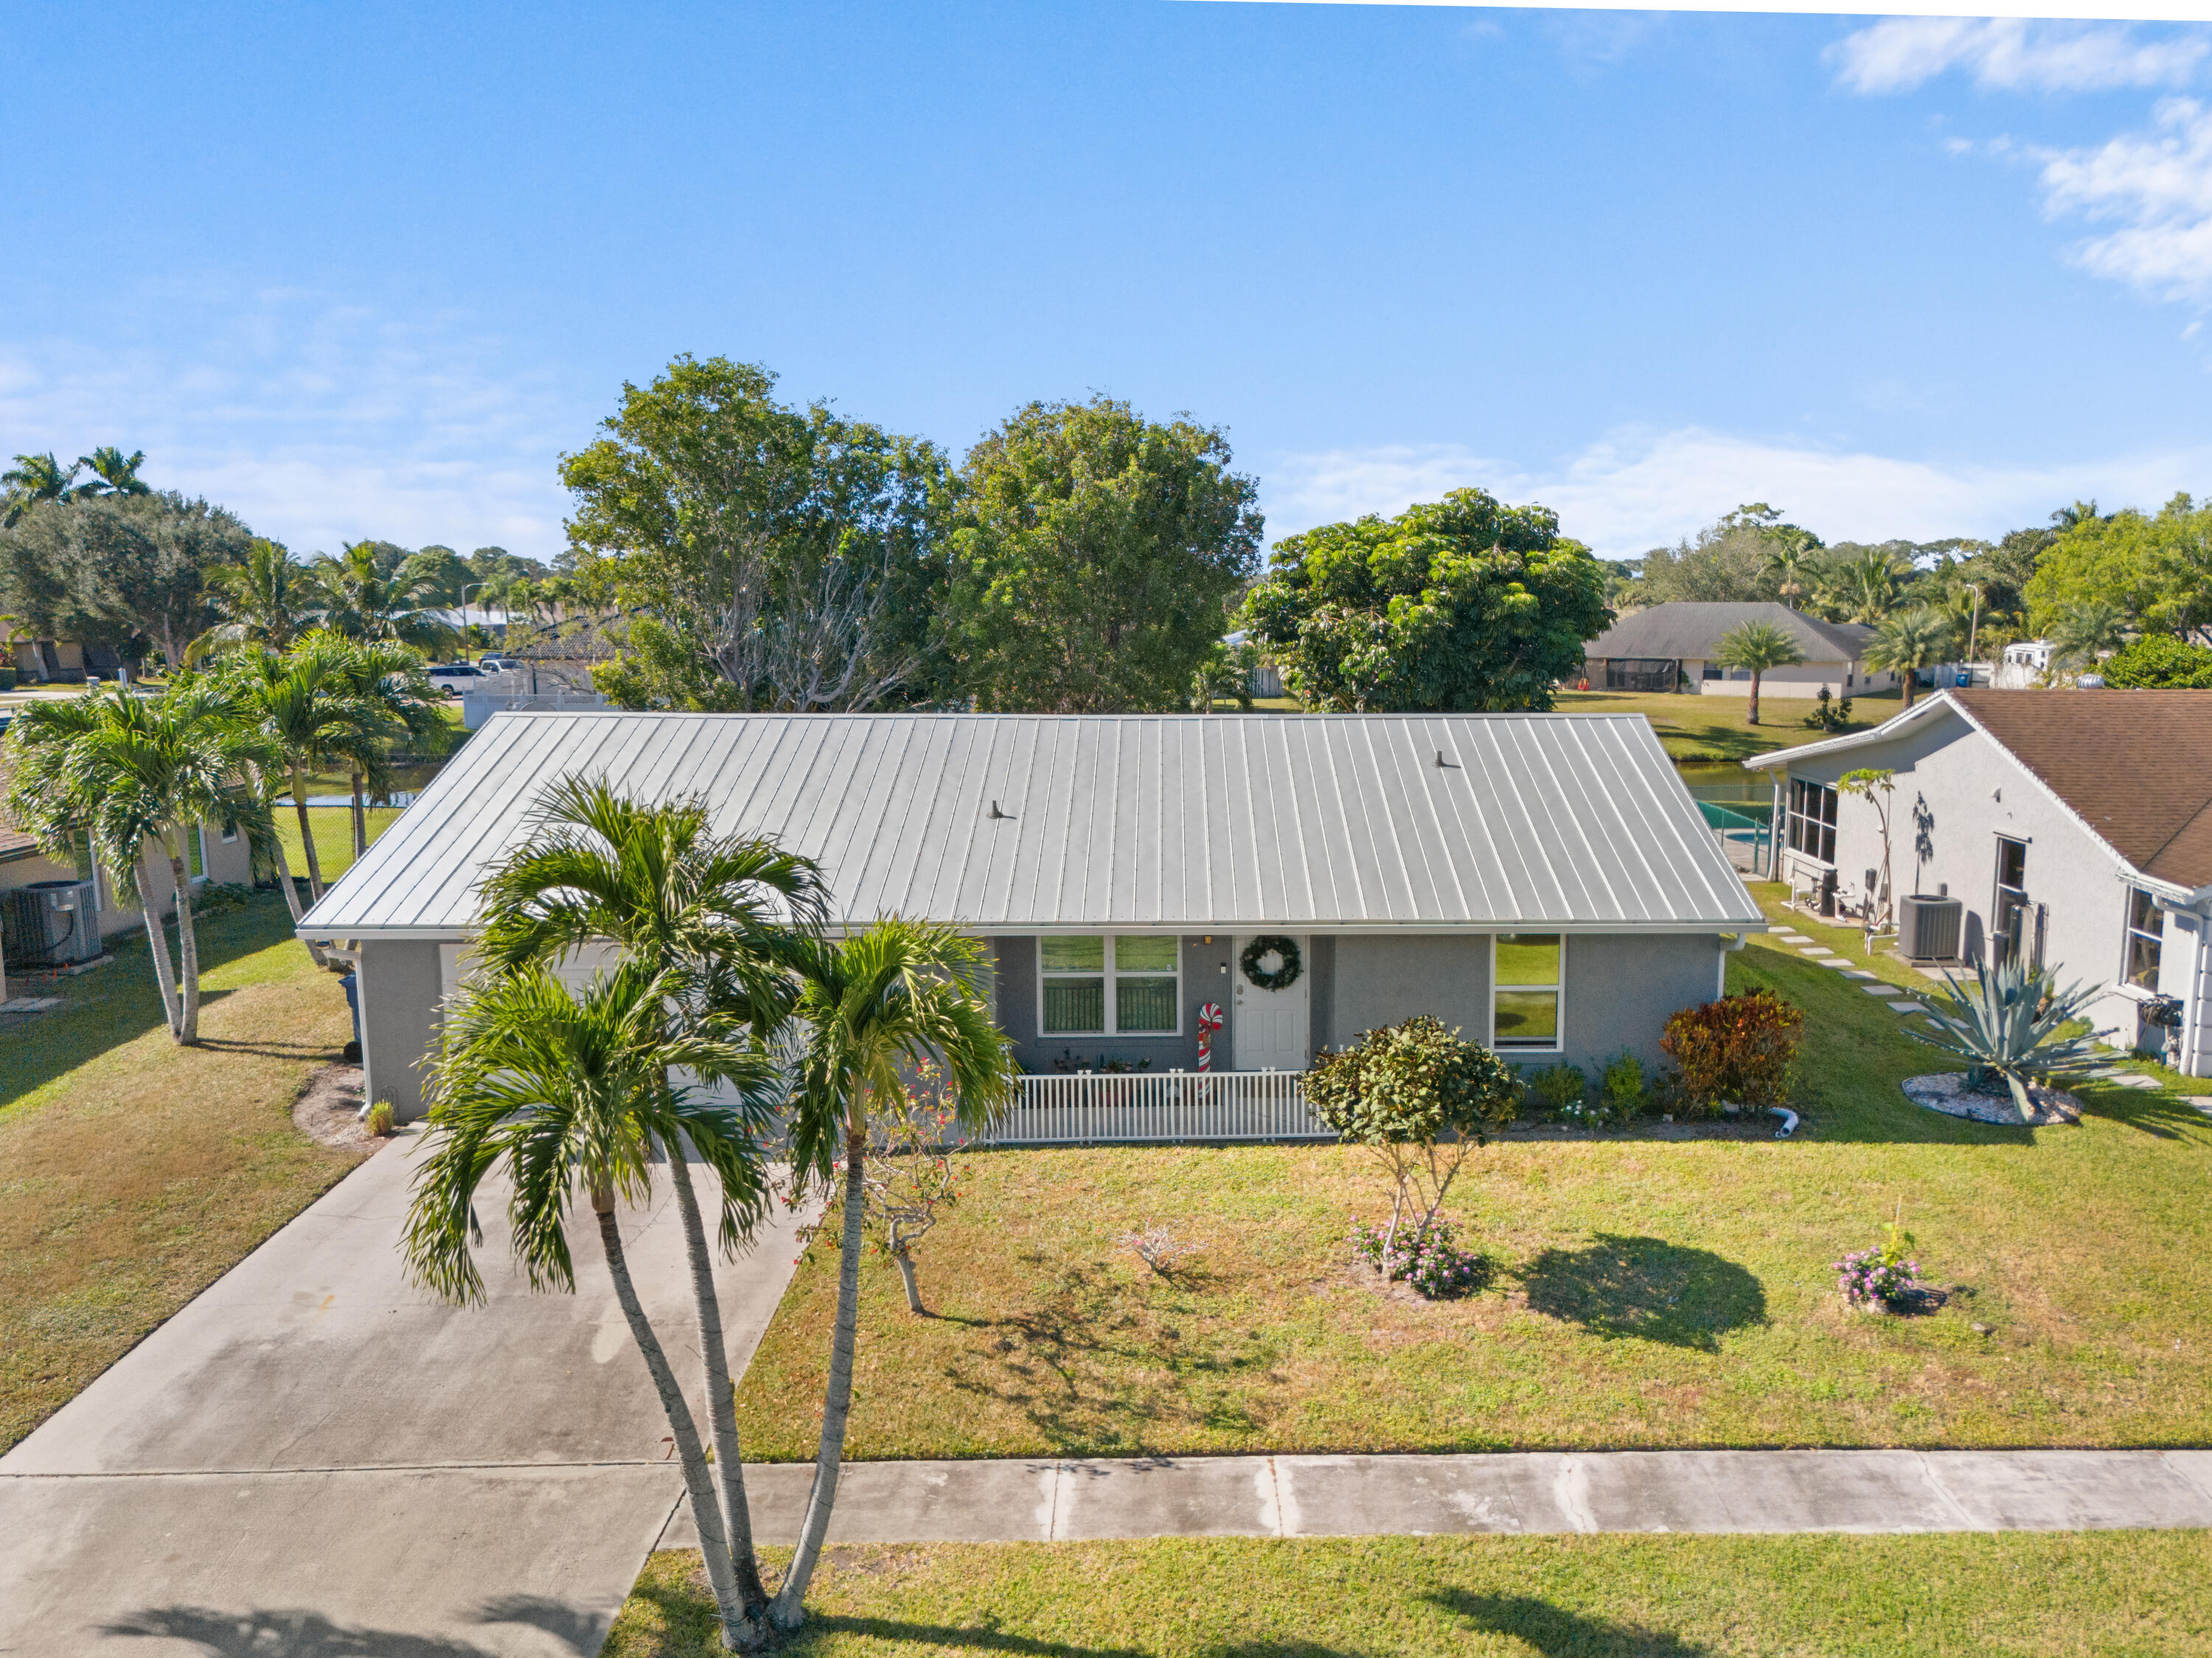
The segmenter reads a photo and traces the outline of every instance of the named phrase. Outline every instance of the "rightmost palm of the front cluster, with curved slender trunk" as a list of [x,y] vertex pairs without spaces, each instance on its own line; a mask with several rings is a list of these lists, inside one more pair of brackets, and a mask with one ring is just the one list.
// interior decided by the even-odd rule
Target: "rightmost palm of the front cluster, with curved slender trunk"
[[799,1019],[807,1035],[792,1092],[794,1180],[801,1189],[807,1180],[827,1187],[843,1163],[845,1211],[814,1488],[790,1572],[768,1609],[779,1629],[796,1629],[805,1616],[801,1603],[830,1532],[845,1455],[854,1326],[860,1315],[869,1110],[889,1110],[894,1101],[902,1101],[900,1066],[925,1059],[945,1074],[964,1127],[982,1127],[1013,1099],[1013,1061],[1006,1037],[984,1010],[980,973],[982,948],[973,940],[942,922],[909,922],[898,915],[838,944],[816,944],[801,973]]

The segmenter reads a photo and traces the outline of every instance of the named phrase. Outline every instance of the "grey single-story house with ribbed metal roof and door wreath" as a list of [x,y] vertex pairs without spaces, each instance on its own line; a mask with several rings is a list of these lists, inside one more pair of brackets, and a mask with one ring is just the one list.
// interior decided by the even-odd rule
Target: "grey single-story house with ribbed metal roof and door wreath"
[[838,926],[958,922],[1040,1074],[1192,1070],[1208,1004],[1214,1070],[1420,1012],[1533,1063],[1657,1061],[1765,928],[1641,714],[498,714],[301,924],[358,953],[400,1119],[478,884],[564,774],[816,858]]

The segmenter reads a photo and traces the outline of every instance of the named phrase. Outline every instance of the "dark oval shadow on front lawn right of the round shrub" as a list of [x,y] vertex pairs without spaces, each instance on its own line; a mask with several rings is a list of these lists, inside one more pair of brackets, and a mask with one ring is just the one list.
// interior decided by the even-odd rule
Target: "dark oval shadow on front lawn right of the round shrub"
[[1767,1291],[1750,1271],[1663,1238],[1599,1231],[1586,1249],[1546,1249],[1520,1278],[1531,1311],[1593,1335],[1714,1353],[1723,1331],[1767,1322]]

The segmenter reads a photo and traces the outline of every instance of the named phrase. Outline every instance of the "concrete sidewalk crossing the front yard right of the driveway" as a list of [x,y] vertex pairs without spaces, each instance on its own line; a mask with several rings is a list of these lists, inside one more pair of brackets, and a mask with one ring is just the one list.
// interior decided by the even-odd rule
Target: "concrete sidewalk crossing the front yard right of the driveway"
[[[812,1466],[750,1468],[768,1543]],[[845,1543],[1442,1532],[2064,1532],[2212,1525],[2212,1450],[1608,1450],[849,1463]],[[659,1547],[697,1547],[690,1510]]]

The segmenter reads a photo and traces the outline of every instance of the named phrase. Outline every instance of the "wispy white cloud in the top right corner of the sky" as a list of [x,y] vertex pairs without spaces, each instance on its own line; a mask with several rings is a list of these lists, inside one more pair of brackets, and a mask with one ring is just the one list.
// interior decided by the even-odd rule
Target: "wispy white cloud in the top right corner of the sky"
[[1885,18],[1827,49],[1854,93],[1909,93],[1953,69],[1984,91],[2086,93],[2181,86],[2212,51],[2201,31],[2137,40],[2110,24],[2020,18]]

